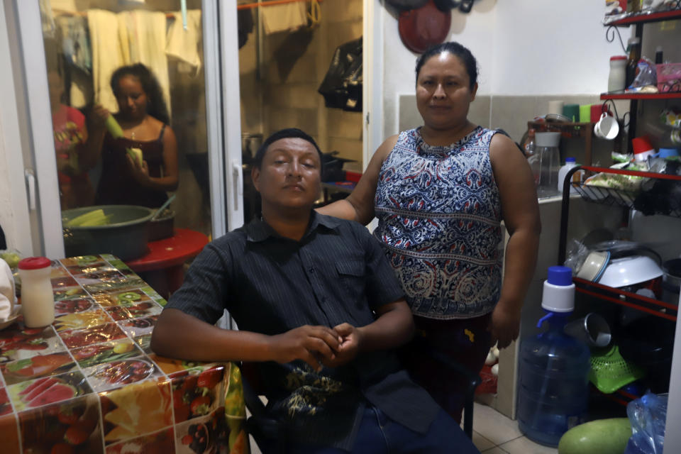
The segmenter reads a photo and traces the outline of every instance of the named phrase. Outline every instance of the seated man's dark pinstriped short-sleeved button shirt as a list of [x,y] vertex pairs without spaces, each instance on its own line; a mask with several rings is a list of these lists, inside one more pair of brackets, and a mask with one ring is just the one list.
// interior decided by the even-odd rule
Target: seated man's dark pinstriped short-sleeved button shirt
[[[192,263],[167,308],[215,323],[227,309],[240,330],[276,335],[302,325],[365,326],[404,297],[380,244],[359,223],[312,212],[301,240],[265,221],[214,240]],[[301,360],[259,363],[268,409],[292,441],[350,449],[368,402],[420,433],[438,406],[392,351],[360,353],[314,371]]]

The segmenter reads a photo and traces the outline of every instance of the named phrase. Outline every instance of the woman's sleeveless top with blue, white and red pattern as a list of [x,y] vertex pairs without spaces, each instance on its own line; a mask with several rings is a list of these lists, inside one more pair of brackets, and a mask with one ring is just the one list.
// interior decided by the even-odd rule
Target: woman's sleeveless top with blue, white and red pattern
[[376,189],[374,236],[411,311],[467,319],[494,309],[502,284],[499,189],[489,162],[497,131],[478,126],[448,147],[400,133]]

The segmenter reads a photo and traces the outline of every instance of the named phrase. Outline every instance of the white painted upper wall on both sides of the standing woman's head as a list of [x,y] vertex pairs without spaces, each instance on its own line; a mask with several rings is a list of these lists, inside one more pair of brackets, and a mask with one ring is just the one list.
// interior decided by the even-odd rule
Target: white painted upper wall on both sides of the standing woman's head
[[[378,0],[377,0],[378,1]],[[604,1],[478,0],[468,14],[452,11],[448,40],[478,60],[478,94],[598,94],[607,90],[609,59]],[[397,97],[414,93],[418,55],[399,38],[397,18],[384,15],[384,133],[397,133]],[[622,28],[622,39],[633,33]]]

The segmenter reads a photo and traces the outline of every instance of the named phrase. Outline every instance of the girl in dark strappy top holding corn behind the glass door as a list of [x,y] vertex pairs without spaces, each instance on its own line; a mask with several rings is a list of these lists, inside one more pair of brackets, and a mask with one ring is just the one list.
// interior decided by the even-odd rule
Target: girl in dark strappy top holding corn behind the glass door
[[[96,204],[161,206],[167,200],[166,192],[177,189],[178,170],[177,142],[168,126],[170,118],[160,85],[152,72],[138,63],[118,68],[111,75],[111,89],[118,102],[114,117],[123,137],[104,136]],[[142,150],[141,166],[126,148]]]

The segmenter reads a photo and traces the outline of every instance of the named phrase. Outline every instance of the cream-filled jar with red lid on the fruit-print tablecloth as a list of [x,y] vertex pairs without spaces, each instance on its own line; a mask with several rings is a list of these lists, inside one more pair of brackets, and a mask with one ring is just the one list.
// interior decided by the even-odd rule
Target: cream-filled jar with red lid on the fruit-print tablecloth
[[18,264],[21,278],[21,312],[28,328],[55,321],[55,295],[50,282],[50,259],[29,257]]

